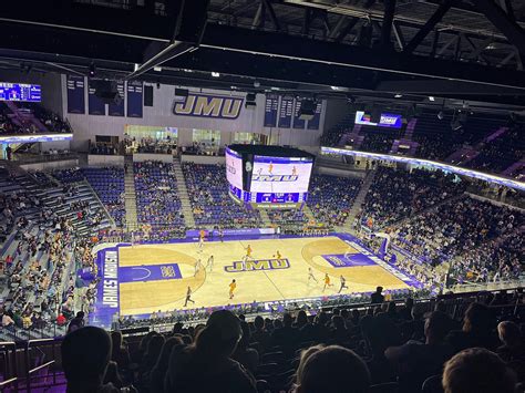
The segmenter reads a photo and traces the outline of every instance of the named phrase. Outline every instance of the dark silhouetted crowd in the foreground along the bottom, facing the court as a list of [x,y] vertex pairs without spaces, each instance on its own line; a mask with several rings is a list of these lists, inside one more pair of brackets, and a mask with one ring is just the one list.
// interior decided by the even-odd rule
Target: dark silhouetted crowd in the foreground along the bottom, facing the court
[[524,381],[521,291],[399,304],[378,288],[371,300],[254,320],[218,310],[127,339],[80,328],[62,343],[68,390],[512,393]]

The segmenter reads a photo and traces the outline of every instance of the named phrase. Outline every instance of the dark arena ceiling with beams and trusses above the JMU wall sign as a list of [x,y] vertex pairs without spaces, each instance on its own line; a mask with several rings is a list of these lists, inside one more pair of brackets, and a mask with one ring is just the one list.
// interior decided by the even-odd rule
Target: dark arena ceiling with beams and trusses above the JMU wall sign
[[0,66],[519,111],[524,27],[522,0],[19,0]]

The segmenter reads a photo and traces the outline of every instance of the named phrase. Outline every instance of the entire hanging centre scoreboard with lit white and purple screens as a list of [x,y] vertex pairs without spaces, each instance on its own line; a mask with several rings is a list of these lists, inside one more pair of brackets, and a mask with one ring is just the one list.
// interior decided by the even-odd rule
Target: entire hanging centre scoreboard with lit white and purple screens
[[308,197],[315,156],[280,146],[231,145],[226,149],[229,195],[262,208],[296,208]]

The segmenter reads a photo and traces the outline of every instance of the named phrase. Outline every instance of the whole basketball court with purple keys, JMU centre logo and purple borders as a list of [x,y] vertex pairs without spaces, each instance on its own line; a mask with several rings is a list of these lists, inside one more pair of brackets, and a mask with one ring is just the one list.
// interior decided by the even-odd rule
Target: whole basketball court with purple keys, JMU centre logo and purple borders
[[[243,261],[248,246],[251,258]],[[278,258],[278,252],[280,258]],[[209,257],[214,263],[208,263]],[[196,263],[198,269],[196,272]],[[96,314],[150,314],[153,311],[183,310],[187,287],[192,289],[188,309],[227,304],[320,298],[341,293],[372,292],[416,286],[371,254],[350,235],[237,239],[154,245],[119,245],[99,251]],[[309,278],[312,269],[317,282]],[[325,288],[325,275],[331,286]],[[229,299],[229,283],[237,288]]]

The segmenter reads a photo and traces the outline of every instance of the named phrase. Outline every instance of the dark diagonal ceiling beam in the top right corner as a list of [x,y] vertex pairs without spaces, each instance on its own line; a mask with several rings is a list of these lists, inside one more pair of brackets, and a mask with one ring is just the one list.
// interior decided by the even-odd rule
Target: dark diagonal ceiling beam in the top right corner
[[525,59],[525,30],[512,20],[494,0],[477,0],[476,7],[507,38],[508,42],[517,48],[523,61]]

